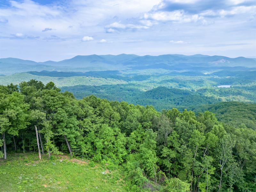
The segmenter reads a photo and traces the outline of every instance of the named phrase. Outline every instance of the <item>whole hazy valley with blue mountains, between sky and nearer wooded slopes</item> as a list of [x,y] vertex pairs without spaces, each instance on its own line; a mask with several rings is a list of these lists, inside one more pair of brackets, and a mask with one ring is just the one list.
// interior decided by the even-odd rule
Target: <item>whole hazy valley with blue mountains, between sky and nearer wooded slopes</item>
[[[251,58],[121,54],[39,63],[6,58],[0,59],[0,65],[0,82],[4,85],[30,79],[44,84],[52,81],[77,99],[93,94],[102,99],[152,105],[159,111],[173,107],[192,110],[224,101],[256,102],[256,60]],[[27,68],[23,73],[15,72],[20,71],[20,65]]]

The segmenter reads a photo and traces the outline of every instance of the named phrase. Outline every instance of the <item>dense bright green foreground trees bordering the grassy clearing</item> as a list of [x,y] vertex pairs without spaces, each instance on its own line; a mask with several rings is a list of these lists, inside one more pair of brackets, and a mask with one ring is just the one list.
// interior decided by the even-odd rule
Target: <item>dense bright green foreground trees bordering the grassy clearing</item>
[[76,100],[50,82],[0,86],[0,155],[66,153],[124,166],[130,191],[256,191],[256,132],[212,112],[157,112],[95,96]]

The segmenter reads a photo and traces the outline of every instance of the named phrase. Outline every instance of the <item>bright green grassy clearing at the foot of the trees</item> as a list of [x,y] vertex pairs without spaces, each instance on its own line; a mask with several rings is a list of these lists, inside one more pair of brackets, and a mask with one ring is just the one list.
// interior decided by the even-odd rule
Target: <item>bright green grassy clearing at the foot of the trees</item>
[[0,191],[126,191],[121,170],[68,156],[8,154],[0,160]]

